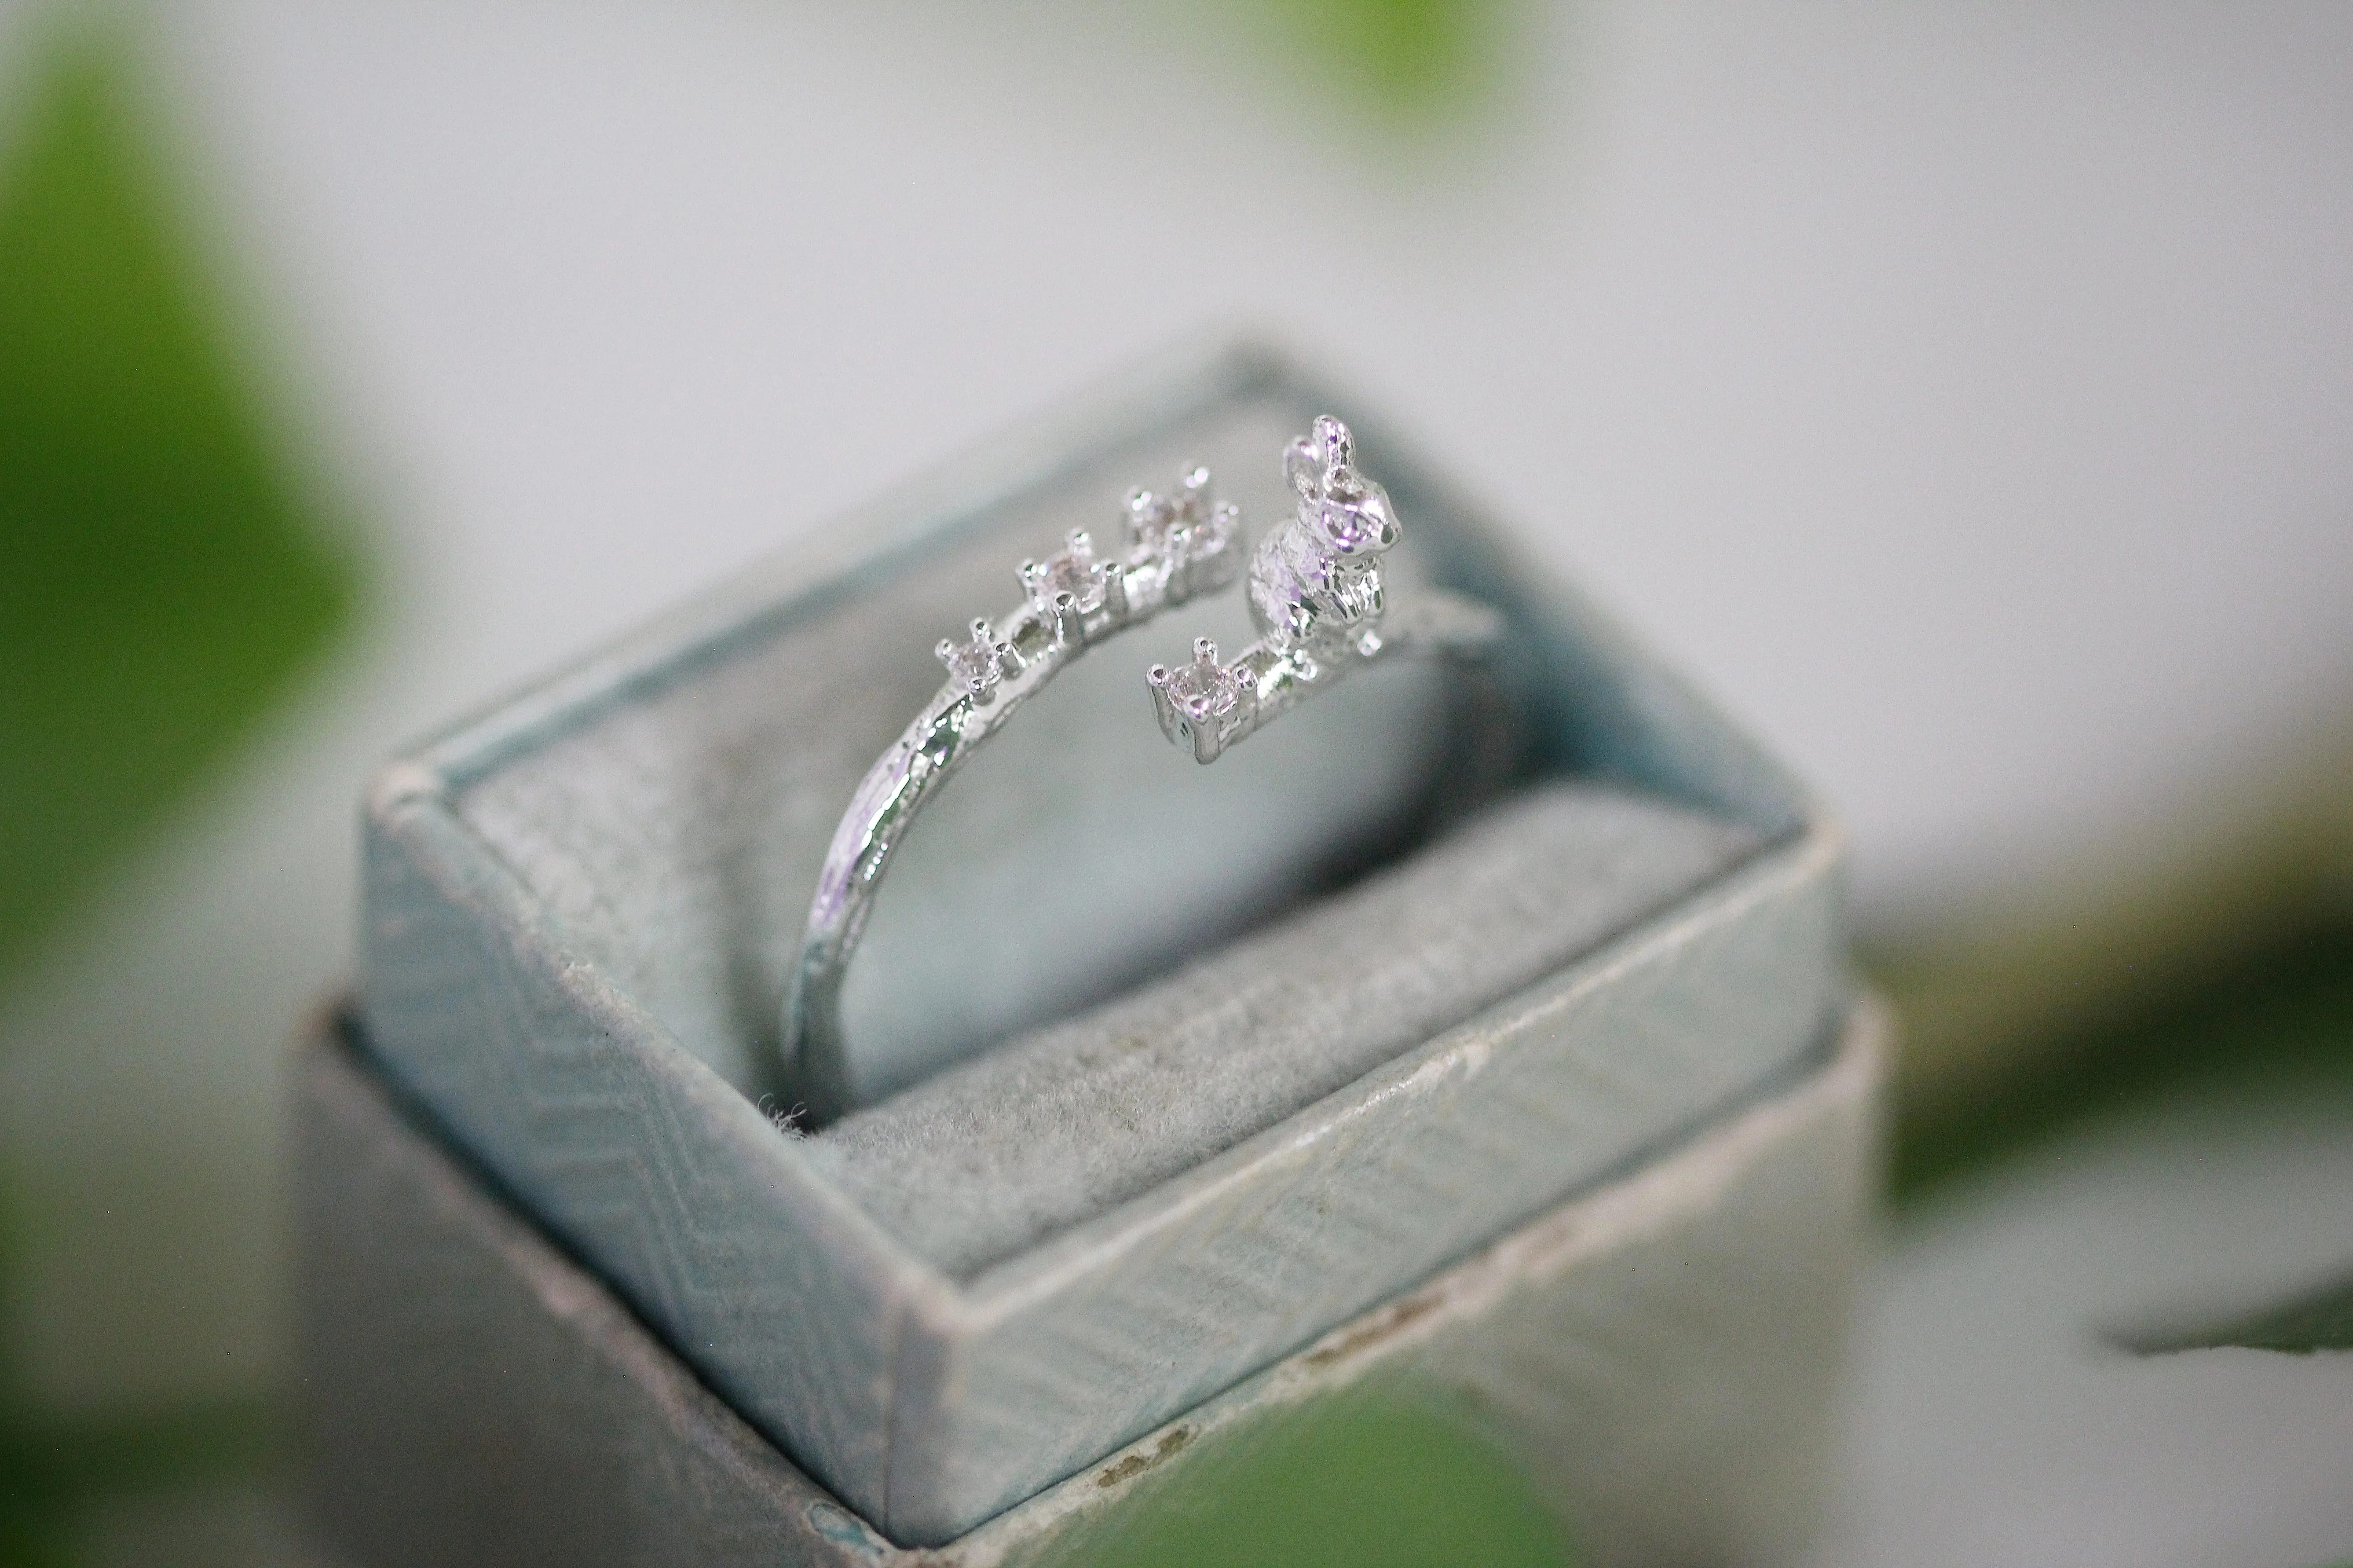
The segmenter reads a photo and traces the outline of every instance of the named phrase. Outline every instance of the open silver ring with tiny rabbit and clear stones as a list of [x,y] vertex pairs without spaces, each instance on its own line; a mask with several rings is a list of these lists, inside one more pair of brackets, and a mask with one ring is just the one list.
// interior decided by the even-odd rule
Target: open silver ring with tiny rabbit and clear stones
[[[1299,496],[1297,515],[1249,559],[1259,639],[1233,663],[1219,663],[1217,644],[1200,639],[1191,665],[1153,665],[1146,677],[1162,731],[1188,743],[1200,762],[1358,665],[1407,651],[1480,649],[1501,625],[1494,609],[1442,590],[1424,590],[1384,616],[1379,557],[1398,543],[1398,520],[1388,494],[1355,470],[1348,428],[1337,418],[1318,418],[1311,435],[1289,444],[1285,475]],[[849,1110],[842,976],[913,820],[1064,665],[1238,576],[1242,517],[1214,498],[1207,468],[1188,468],[1167,494],[1132,491],[1122,531],[1118,559],[1099,559],[1094,541],[1073,531],[1061,555],[1021,562],[1021,609],[995,623],[972,621],[965,642],[941,639],[948,684],[849,797],[816,877],[784,1004],[784,1060],[814,1121]]]

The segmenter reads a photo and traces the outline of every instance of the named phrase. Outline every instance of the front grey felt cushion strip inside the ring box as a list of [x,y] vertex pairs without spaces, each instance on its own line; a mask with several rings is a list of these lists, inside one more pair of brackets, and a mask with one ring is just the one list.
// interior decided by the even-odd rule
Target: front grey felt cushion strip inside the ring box
[[1751,827],[1654,795],[1541,785],[805,1150],[908,1248],[972,1276],[1558,971],[1760,846]]

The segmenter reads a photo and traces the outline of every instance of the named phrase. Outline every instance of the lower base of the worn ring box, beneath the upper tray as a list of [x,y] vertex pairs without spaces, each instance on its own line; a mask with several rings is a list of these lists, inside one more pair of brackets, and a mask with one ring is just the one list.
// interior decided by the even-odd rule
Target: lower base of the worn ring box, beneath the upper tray
[[301,1502],[353,1568],[1779,1563],[1878,1192],[1885,1025],[941,1549],[704,1387],[374,1070],[294,1072]]

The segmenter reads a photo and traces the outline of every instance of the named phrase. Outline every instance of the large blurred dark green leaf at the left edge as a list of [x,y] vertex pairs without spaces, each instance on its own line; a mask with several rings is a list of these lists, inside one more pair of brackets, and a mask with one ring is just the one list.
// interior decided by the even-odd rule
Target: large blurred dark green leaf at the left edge
[[351,567],[71,33],[0,158],[0,969],[320,654]]

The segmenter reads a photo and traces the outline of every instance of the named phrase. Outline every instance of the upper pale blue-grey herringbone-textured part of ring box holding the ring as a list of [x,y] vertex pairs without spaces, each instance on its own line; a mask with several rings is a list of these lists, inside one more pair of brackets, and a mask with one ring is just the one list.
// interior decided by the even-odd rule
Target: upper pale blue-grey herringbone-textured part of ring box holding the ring
[[[1365,675],[1195,771],[1151,733],[1158,649],[1073,665],[944,797],[962,816],[911,837],[847,1009],[873,1105],[805,1135],[767,1067],[776,999],[835,816],[939,682],[932,639],[1181,461],[1266,520],[1282,440],[1327,409],[1407,520],[1398,592],[1504,611],[1485,677]],[[1527,823],[1565,849],[1520,870],[1508,835],[1440,832],[1497,792],[1480,820],[1546,811]],[[1852,1006],[1838,867],[1762,748],[1344,400],[1233,350],[1040,421],[386,766],[360,1037],[751,1427],[920,1547],[1824,1072]],[[1181,1011],[1188,976],[1282,999],[1315,922],[1417,929],[1464,886],[1497,898],[1438,926],[1494,924],[1468,959],[1544,926],[1539,969],[1464,992],[1475,964],[1417,945],[1438,936],[1367,945],[1367,994],[1395,997],[1367,1027],[1426,1030],[1327,1030],[1254,1072],[1264,1020],[1195,1006],[1207,1044],[1132,1056],[1165,1067],[1136,1079],[1160,1103],[1120,1098],[1120,1030]],[[1322,985],[1306,1011],[1341,1018],[1353,990]]]

